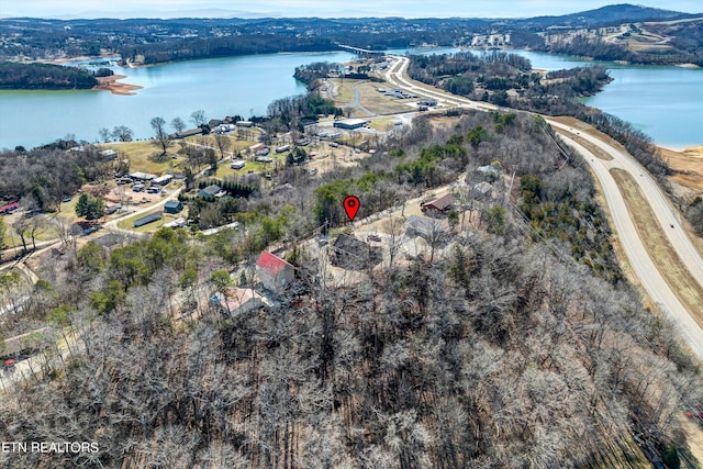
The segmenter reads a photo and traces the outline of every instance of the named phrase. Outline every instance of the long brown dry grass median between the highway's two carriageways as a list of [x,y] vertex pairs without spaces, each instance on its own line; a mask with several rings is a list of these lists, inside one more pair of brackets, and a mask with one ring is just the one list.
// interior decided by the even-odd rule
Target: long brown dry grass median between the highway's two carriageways
[[665,278],[674,294],[691,314],[691,317],[703,327],[703,291],[688,269],[681,263],[669,239],[665,235],[657,219],[647,203],[635,179],[622,169],[611,169],[611,175],[617,182],[627,210],[635,223],[637,233],[643,239],[659,272]]

